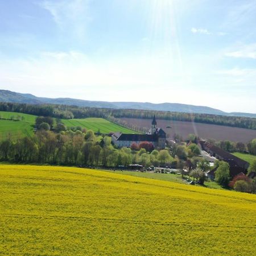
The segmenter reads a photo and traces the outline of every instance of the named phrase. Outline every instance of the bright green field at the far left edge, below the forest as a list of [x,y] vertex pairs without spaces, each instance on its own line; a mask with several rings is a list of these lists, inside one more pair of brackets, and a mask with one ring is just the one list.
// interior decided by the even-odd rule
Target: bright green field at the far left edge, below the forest
[[[7,138],[18,138],[19,136],[31,136],[33,134],[33,125],[35,124],[36,115],[0,112],[0,141]],[[17,121],[18,120],[18,121]]]

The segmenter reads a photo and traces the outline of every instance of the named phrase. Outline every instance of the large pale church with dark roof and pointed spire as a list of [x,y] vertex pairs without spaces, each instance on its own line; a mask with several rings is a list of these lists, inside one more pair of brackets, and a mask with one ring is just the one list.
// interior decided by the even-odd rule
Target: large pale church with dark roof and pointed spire
[[124,134],[114,133],[112,142],[117,147],[130,147],[133,143],[150,142],[154,148],[166,148],[166,133],[163,129],[157,127],[155,115],[151,123],[151,129],[146,134]]

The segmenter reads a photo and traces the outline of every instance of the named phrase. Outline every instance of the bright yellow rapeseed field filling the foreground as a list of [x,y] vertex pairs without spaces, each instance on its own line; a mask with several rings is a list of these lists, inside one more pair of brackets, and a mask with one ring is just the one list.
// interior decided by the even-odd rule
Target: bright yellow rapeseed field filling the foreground
[[0,165],[1,255],[256,255],[256,195]]

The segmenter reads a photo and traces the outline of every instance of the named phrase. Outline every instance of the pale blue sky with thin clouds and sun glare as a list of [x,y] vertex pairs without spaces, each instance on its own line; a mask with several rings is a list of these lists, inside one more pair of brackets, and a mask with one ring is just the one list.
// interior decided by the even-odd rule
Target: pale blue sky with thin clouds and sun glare
[[0,89],[256,113],[255,0],[0,0]]

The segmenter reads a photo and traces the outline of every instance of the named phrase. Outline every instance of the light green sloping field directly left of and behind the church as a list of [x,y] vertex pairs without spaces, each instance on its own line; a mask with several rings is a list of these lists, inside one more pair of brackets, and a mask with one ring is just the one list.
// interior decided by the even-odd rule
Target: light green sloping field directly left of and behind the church
[[67,127],[81,126],[86,130],[93,130],[94,133],[97,133],[99,130],[101,133],[111,133],[116,131],[121,131],[122,133],[137,133],[136,131],[109,122],[104,118],[62,119],[61,122]]

